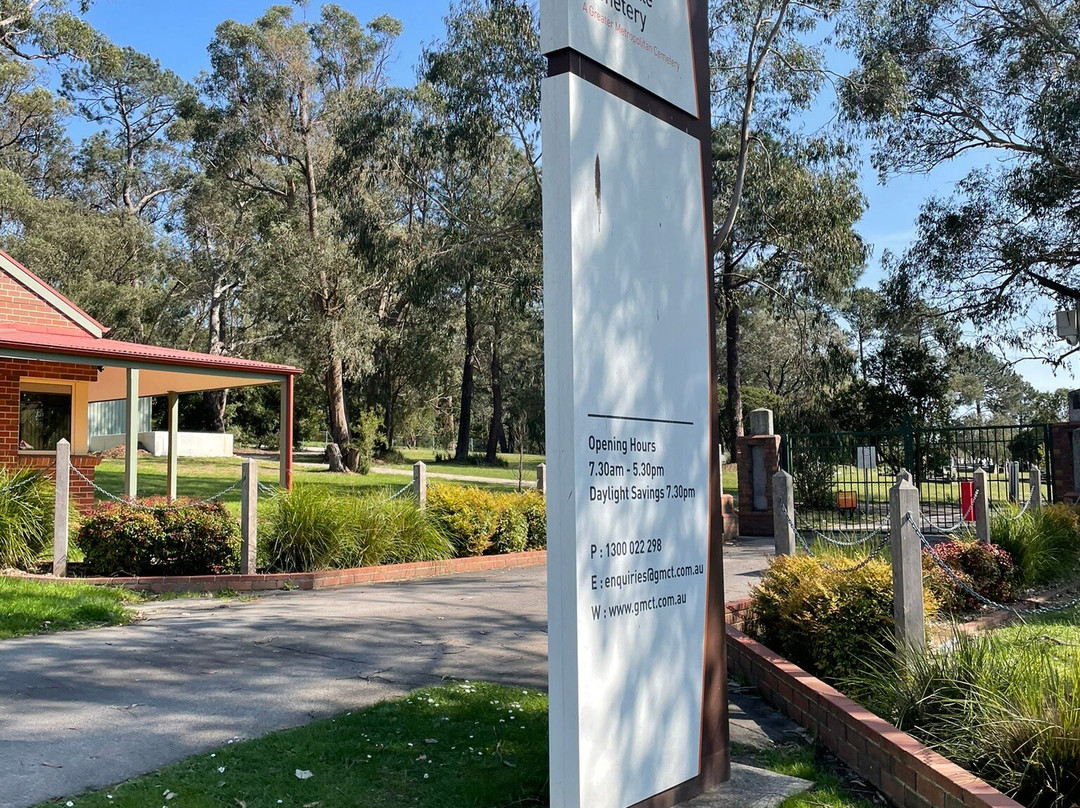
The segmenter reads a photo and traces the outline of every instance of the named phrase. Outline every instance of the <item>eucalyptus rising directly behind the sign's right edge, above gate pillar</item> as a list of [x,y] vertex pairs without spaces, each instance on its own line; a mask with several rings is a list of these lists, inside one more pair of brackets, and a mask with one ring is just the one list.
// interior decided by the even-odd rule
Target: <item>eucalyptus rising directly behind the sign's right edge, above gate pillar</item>
[[[832,299],[836,288],[848,282],[852,268],[863,260],[864,248],[851,232],[863,205],[851,179],[852,156],[836,144],[801,138],[791,126],[792,119],[814,103],[829,78],[825,52],[814,44],[814,35],[840,8],[840,0],[816,3],[724,0],[711,4],[714,271],[717,308],[725,324],[724,365],[730,441],[743,433],[740,321],[747,287],[773,287],[788,305],[796,293],[812,295],[818,287],[827,291],[826,299]],[[774,159],[785,164],[781,172],[772,171]],[[783,171],[788,173],[787,187],[778,178]],[[755,184],[761,187],[755,189]],[[773,238],[768,223],[770,214],[768,207],[761,207],[754,198],[771,200],[766,202],[768,205],[781,197],[785,200],[781,206],[788,213],[799,204],[804,213],[812,212],[813,203],[824,199],[831,206],[831,214],[815,221],[814,216],[793,218],[788,213],[780,213],[778,218],[786,217],[786,221],[775,232],[779,243],[769,245],[768,240]],[[750,205],[756,205],[757,211],[748,211]],[[743,227],[740,224],[743,216],[755,220]],[[741,237],[740,227],[743,228]],[[823,264],[825,254],[822,251],[810,261],[816,266],[808,265],[792,273],[800,278],[791,285],[782,280],[788,274],[786,270],[780,270],[779,275],[773,271],[767,277],[770,275],[767,269],[770,261],[760,260],[756,252],[774,251],[775,259],[771,260],[774,269],[785,260],[789,260],[788,268],[794,269],[800,262],[798,247],[792,251],[785,242],[794,245],[801,240],[802,244],[812,246],[815,228],[829,230],[826,238],[834,239],[839,247],[833,265]],[[783,257],[785,254],[787,259]],[[766,270],[764,275],[761,270]],[[836,278],[829,279],[834,271]]]

